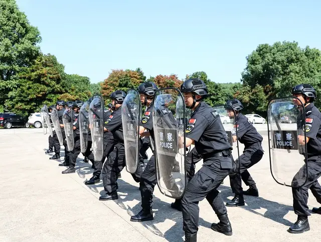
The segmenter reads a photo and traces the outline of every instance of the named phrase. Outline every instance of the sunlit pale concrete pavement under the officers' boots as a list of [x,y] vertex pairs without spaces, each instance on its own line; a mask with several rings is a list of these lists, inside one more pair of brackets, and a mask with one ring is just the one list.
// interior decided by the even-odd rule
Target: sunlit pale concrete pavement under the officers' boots
[[[266,125],[255,126],[264,135]],[[48,135],[41,129],[1,129],[0,137],[0,241],[183,241],[182,213],[170,207],[173,199],[157,187],[154,220],[131,222],[130,216],[140,210],[140,192],[125,170],[118,179],[119,199],[99,201],[102,183],[84,184],[92,175],[91,164],[80,162],[79,156],[77,172],[61,174],[62,161],[49,160],[44,153]],[[232,236],[210,229],[218,219],[206,200],[200,202],[198,241],[321,241],[318,214],[309,216],[310,231],[286,231],[296,220],[291,189],[278,185],[270,174],[266,135],[263,148],[263,159],[249,169],[260,197],[245,197],[245,206],[227,208]],[[228,178],[220,191],[225,201],[233,197]],[[308,205],[320,205],[311,193]]]

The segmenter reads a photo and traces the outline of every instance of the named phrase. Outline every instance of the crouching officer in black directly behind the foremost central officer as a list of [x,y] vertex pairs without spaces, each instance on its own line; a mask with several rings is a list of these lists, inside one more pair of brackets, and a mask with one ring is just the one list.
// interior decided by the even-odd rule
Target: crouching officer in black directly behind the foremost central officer
[[[230,184],[235,196],[231,202],[226,203],[226,206],[243,206],[243,194],[251,196],[259,195],[255,181],[252,179],[247,169],[262,159],[264,152],[261,142],[263,138],[256,131],[248,118],[241,113],[243,105],[239,100],[229,100],[226,102],[226,105],[232,107],[235,111],[234,113],[233,110],[227,110],[227,114],[230,118],[236,120],[234,128],[237,130],[238,140],[245,146],[243,154],[239,157],[239,160],[236,161],[240,165],[240,171],[236,174],[230,175]],[[235,114],[236,117],[234,117]],[[236,135],[233,135],[233,142],[236,142]],[[242,180],[247,186],[249,186],[249,189],[244,192],[242,188]]]

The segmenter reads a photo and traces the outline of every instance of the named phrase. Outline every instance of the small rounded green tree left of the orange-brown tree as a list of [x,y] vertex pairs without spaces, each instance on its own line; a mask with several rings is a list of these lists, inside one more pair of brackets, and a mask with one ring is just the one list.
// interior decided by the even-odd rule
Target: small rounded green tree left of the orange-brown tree
[[62,100],[69,98],[66,101],[87,100],[91,96],[90,80],[88,77],[82,77],[76,74],[65,75],[61,82],[61,87],[65,93],[70,96],[61,97]]

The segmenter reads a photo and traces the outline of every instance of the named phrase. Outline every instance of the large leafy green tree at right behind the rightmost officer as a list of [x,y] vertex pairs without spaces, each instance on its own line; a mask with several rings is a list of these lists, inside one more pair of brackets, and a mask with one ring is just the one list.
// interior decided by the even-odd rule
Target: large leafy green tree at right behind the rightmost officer
[[321,89],[321,52],[297,42],[262,44],[247,57],[242,81],[251,89],[263,88],[268,99],[291,94],[293,86],[311,84]]

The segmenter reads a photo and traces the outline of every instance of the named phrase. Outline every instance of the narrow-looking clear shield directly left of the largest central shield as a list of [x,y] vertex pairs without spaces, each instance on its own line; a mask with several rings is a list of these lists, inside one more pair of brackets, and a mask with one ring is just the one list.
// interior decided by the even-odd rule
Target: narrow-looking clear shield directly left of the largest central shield
[[130,89],[121,106],[121,119],[124,132],[126,170],[135,173],[138,168],[139,152],[139,123],[141,104],[139,93]]

